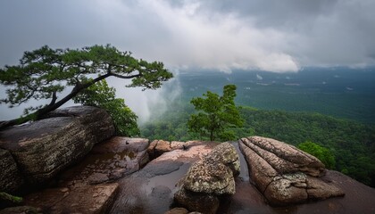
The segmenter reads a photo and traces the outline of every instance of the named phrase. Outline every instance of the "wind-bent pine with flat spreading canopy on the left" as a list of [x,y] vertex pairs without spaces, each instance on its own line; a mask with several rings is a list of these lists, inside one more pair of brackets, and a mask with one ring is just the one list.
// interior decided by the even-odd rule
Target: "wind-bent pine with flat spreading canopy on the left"
[[[98,78],[87,78],[96,74]],[[50,99],[47,106],[31,106],[26,109],[39,114],[52,111],[77,95],[79,91],[104,78],[131,79],[128,86],[155,89],[162,81],[172,78],[162,62],[137,60],[129,52],[121,52],[111,45],[94,45],[77,50],[52,49],[43,46],[32,52],[25,52],[19,65],[0,69],[0,83],[7,86],[7,98],[1,103],[10,107],[26,103],[30,99]],[[67,86],[73,89],[69,95],[57,100],[58,94]],[[39,115],[37,115],[38,117]]]

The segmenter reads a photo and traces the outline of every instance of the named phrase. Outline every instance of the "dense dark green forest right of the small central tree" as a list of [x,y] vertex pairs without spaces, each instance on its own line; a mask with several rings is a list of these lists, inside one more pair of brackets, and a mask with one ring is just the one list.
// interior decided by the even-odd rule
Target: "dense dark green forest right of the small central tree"
[[363,184],[375,186],[375,127],[318,113],[241,109],[246,119],[237,135],[267,136],[297,145],[311,141],[329,148],[337,171],[346,172]]

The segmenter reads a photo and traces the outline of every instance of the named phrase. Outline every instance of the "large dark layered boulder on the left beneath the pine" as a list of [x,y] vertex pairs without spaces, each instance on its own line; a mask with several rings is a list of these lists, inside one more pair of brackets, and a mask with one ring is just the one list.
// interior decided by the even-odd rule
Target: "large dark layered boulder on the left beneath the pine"
[[31,185],[54,177],[83,158],[94,144],[114,134],[109,114],[95,107],[69,107],[53,111],[48,117],[53,118],[0,132],[0,148],[11,152]]

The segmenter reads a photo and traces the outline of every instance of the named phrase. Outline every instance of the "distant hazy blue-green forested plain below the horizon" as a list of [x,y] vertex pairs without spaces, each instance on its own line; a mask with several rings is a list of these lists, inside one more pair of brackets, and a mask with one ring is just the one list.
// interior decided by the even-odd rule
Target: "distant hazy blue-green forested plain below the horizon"
[[189,70],[178,77],[181,99],[237,86],[237,104],[262,110],[319,112],[375,124],[375,68],[304,68],[296,73],[260,70]]

